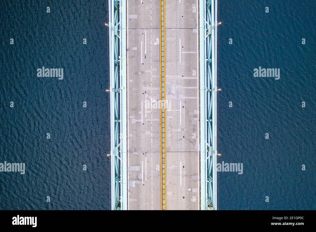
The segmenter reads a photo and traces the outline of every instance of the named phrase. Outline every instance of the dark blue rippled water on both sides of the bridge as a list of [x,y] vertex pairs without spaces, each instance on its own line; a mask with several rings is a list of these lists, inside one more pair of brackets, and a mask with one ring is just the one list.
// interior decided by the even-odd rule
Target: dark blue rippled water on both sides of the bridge
[[[316,209],[315,9],[219,0],[219,161],[244,164],[219,173],[219,209]],[[0,13],[0,162],[26,163],[0,173],[0,209],[109,209],[106,1],[3,0]],[[259,66],[280,80],[253,77]]]

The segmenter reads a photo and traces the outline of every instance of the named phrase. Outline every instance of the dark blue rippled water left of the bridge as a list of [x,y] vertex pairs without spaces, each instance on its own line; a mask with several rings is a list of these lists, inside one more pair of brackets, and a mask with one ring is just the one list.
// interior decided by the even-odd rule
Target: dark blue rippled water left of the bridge
[[3,0],[0,21],[0,162],[26,164],[0,173],[0,209],[109,209],[107,2]]

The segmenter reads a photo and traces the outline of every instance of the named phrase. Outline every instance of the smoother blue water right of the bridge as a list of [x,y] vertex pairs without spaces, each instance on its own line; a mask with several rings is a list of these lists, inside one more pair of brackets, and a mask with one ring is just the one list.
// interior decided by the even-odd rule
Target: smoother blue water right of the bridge
[[[242,175],[219,173],[219,209],[316,209],[315,10],[219,0],[219,160],[244,164]],[[280,79],[253,77],[259,66],[280,68]]]

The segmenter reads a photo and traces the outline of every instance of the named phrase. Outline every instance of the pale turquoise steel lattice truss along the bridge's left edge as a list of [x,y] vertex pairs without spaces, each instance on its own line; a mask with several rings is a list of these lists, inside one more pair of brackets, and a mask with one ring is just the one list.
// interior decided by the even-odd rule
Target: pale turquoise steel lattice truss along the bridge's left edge
[[121,23],[125,22],[122,3],[125,4],[125,0],[108,0],[112,210],[126,208],[126,27]]

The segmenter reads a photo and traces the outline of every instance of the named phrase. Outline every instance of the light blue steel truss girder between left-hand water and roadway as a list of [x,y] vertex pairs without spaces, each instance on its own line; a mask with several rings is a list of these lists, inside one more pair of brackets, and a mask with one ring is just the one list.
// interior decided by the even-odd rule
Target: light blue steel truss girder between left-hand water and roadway
[[[111,127],[111,209],[122,209],[122,1],[108,0]],[[123,9],[125,10],[125,9]],[[125,20],[125,19],[124,19]],[[123,147],[124,148],[124,147]]]

